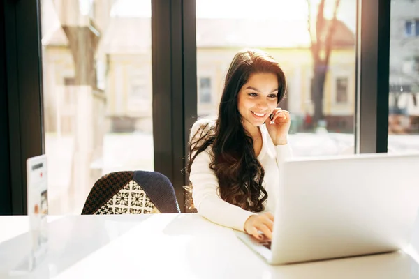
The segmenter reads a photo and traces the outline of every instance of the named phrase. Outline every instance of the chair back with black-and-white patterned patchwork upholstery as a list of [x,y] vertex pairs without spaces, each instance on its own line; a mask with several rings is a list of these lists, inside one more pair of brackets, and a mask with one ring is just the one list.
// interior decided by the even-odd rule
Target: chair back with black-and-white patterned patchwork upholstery
[[170,180],[159,172],[112,172],[102,176],[82,210],[92,214],[180,213]]

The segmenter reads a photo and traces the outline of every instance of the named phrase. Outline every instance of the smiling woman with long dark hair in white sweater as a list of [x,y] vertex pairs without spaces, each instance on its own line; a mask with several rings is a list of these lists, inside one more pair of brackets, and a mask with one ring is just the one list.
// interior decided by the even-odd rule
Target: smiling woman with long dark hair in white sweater
[[271,56],[239,52],[226,75],[218,118],[191,129],[188,171],[198,213],[258,239],[272,238],[279,167],[291,156],[290,116],[277,108],[285,89],[284,72]]

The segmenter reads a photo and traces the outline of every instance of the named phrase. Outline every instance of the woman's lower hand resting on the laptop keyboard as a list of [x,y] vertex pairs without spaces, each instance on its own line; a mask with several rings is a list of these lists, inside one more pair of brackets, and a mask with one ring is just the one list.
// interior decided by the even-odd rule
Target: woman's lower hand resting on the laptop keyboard
[[[270,212],[251,215],[244,222],[244,232],[259,240],[264,239],[263,235],[267,239],[272,239],[272,229],[274,229],[274,216]],[[263,235],[260,232],[263,232]]]

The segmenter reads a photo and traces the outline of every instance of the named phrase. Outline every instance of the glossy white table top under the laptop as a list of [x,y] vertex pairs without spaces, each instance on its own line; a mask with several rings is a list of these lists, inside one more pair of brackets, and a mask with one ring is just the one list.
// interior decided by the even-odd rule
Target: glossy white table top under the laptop
[[402,252],[270,266],[231,229],[196,214],[48,218],[48,258],[17,277],[8,270],[29,252],[27,216],[0,216],[0,278],[419,278]]

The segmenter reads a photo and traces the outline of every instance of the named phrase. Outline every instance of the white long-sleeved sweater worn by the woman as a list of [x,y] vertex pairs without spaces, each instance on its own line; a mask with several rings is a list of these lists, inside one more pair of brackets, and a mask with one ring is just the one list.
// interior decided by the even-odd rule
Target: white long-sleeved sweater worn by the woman
[[[195,135],[196,131],[203,124],[208,122],[207,119],[201,119],[193,124],[191,137]],[[277,201],[275,195],[279,192],[279,166],[281,166],[285,158],[291,156],[291,149],[288,144],[275,146],[265,125],[260,126],[260,132],[262,133],[263,144],[258,160],[263,169],[265,169],[265,177],[263,179],[263,187],[267,191],[265,211],[274,213]],[[218,179],[214,171],[209,167],[211,163],[210,151],[211,146],[199,153],[191,166],[189,180],[192,183],[193,204],[198,213],[208,220],[219,225],[244,231],[244,222],[254,213],[221,199]]]

